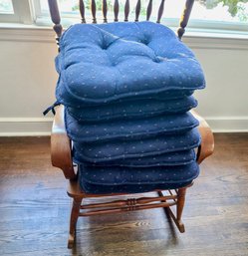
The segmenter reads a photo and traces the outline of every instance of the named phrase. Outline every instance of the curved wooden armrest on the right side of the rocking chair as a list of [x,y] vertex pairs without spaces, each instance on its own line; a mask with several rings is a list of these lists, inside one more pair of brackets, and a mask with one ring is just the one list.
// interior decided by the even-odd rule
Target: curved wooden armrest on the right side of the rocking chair
[[198,129],[201,135],[201,143],[197,151],[197,162],[201,163],[206,157],[208,157],[213,153],[213,149],[214,149],[213,132],[202,117],[200,117],[194,111],[191,111],[191,114],[194,116],[195,119],[199,121]]

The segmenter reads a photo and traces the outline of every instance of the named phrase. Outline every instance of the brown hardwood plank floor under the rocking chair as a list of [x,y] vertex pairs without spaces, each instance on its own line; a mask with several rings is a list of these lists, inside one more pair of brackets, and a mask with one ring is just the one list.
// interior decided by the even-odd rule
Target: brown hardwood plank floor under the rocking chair
[[68,250],[71,202],[49,138],[0,138],[0,255],[248,255],[248,133],[215,141],[188,189],[184,234],[162,209],[86,217]]

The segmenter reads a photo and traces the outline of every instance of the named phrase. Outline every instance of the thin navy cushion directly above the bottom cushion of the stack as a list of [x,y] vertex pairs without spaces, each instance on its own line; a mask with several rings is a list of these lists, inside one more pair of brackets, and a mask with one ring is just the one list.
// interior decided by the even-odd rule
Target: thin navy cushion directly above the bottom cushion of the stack
[[88,163],[93,166],[127,166],[127,167],[150,167],[150,166],[175,166],[194,162],[196,154],[194,149],[181,150],[176,152],[166,152],[157,155],[148,155],[128,159],[109,160],[103,162],[87,162],[78,150],[74,150],[74,161],[76,163]]

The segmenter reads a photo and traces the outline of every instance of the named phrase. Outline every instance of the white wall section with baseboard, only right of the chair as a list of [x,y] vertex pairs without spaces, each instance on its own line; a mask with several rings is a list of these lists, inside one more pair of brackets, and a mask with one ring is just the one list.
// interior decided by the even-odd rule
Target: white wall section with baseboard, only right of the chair
[[[215,131],[248,131],[248,39],[187,39],[207,82],[197,111]],[[198,39],[199,40],[199,39]]]

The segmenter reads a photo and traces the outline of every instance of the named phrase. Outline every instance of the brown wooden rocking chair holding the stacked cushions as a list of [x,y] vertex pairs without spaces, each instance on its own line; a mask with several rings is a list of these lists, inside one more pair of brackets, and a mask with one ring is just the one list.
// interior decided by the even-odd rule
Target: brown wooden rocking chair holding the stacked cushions
[[[57,42],[60,47],[60,38],[62,35],[62,26],[60,24],[60,14],[57,5],[57,1],[49,0],[49,7],[52,16],[52,20],[55,23],[54,30],[57,34]],[[80,13],[82,16],[82,23],[86,23],[85,18],[85,5],[84,1],[79,1],[80,5]],[[157,15],[157,23],[160,22],[163,13],[164,0],[160,2],[158,15]],[[193,6],[192,0],[187,0],[185,4],[185,9],[183,11],[182,18],[180,20],[180,27],[178,29],[178,37],[181,39],[184,29],[187,25],[189,15]],[[96,2],[92,1],[92,15],[93,15],[93,23],[97,23],[96,19]],[[148,2],[147,10],[146,10],[146,20],[149,20],[152,9],[152,0]],[[104,22],[107,23],[107,1],[103,1],[103,14],[104,14]],[[115,12],[115,22],[119,21],[119,1],[115,1],[114,5]],[[129,13],[129,1],[125,1],[124,6],[124,21],[127,23],[128,21],[128,13]],[[140,13],[140,0],[137,1],[135,6],[135,22],[138,21]],[[185,201],[185,193],[186,189],[192,185],[192,180],[187,183],[179,183],[177,186],[167,187],[165,189],[161,187],[155,187],[150,191],[156,191],[157,197],[141,197],[141,198],[130,198],[126,200],[115,200],[105,203],[94,203],[94,204],[82,204],[82,200],[84,198],[89,197],[106,197],[106,196],[117,196],[117,195],[127,195],[131,194],[129,192],[107,192],[107,193],[93,193],[86,192],[82,189],[80,184],[80,177],[77,172],[76,165],[74,164],[73,159],[73,150],[74,147],[72,142],[72,135],[68,134],[68,129],[65,124],[65,110],[66,108],[63,104],[57,109],[52,135],[51,135],[51,154],[52,154],[52,164],[56,167],[59,167],[63,170],[64,175],[67,179],[69,179],[69,188],[68,195],[73,198],[73,207],[71,212],[71,220],[70,220],[70,234],[68,240],[68,247],[72,248],[75,243],[75,235],[76,235],[76,224],[79,216],[91,216],[96,214],[106,214],[106,213],[118,213],[124,211],[132,211],[132,210],[141,210],[141,209],[151,209],[162,207],[164,208],[168,215],[171,216],[175,225],[179,229],[180,232],[184,232],[184,225],[181,221],[182,210]],[[197,164],[201,163],[207,156],[212,154],[214,147],[213,134],[207,123],[199,117],[196,113],[191,111],[192,116],[199,122],[198,130],[201,135],[201,141],[197,145],[197,153],[195,162]],[[80,166],[80,164],[79,164]],[[139,191],[139,192],[147,192]],[[165,192],[165,193],[164,193]],[[171,210],[171,206],[175,205],[176,212],[175,214]]]

